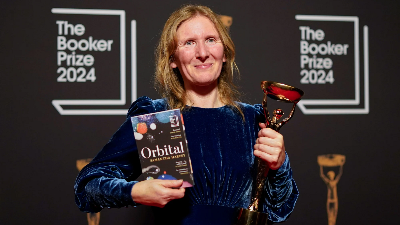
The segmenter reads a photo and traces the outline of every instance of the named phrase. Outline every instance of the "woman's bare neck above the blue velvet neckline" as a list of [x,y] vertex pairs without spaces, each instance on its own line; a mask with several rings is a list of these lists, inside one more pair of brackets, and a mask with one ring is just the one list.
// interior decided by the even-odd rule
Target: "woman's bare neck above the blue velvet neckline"
[[186,83],[186,105],[199,108],[219,108],[225,105],[220,100],[218,80],[206,86],[187,85]]

